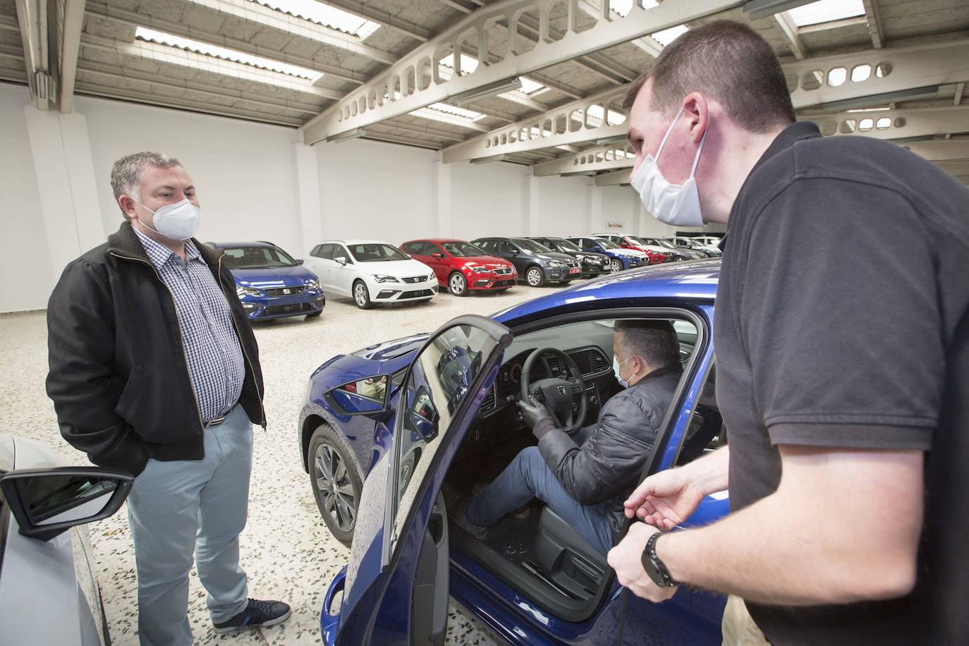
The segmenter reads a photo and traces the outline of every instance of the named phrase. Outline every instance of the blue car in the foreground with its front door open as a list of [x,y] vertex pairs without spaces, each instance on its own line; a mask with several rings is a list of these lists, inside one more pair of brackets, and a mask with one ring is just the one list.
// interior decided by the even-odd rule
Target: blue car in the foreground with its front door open
[[[443,495],[473,493],[534,446],[515,405],[523,396],[546,393],[566,427],[595,422],[620,387],[618,319],[671,321],[683,364],[641,477],[726,444],[713,397],[719,270],[712,260],[612,274],[320,366],[298,447],[329,530],[351,547],[324,600],[326,643],[442,644],[450,597],[513,644],[615,643],[620,632],[623,644],[719,644],[722,596],[683,587],[641,600],[540,501],[475,538],[449,521]],[[727,492],[714,494],[686,525],[727,510]]]

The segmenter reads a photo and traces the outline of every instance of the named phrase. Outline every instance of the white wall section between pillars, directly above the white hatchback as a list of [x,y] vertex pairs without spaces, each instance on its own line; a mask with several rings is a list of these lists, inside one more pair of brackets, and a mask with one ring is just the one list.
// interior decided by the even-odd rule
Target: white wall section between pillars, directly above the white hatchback
[[399,244],[436,234],[434,151],[359,139],[315,147],[325,238],[378,238]]

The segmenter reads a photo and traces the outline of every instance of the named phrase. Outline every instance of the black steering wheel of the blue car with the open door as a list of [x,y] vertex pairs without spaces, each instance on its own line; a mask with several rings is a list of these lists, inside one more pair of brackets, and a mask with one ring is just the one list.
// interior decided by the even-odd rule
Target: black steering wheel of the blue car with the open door
[[[572,375],[572,378],[551,377],[532,382],[531,374],[535,362],[540,357],[547,355],[557,356]],[[552,374],[545,358],[542,360],[546,364],[548,374]],[[582,427],[582,422],[585,421],[588,403],[585,400],[585,382],[582,380],[582,373],[578,370],[578,366],[572,360],[572,357],[557,348],[540,348],[529,354],[528,358],[525,359],[525,364],[521,366],[521,399],[527,402],[529,397],[535,397],[545,404],[555,426],[566,433],[578,430]],[[577,397],[578,402],[576,402]],[[573,411],[573,403],[578,403],[578,412]]]

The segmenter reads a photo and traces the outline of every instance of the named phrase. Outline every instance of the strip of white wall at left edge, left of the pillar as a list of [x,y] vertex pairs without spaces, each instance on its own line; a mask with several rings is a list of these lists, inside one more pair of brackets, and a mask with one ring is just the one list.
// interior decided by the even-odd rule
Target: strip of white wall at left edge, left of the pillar
[[26,87],[0,83],[0,223],[6,240],[0,254],[0,312],[47,307],[53,285],[23,112],[29,104]]

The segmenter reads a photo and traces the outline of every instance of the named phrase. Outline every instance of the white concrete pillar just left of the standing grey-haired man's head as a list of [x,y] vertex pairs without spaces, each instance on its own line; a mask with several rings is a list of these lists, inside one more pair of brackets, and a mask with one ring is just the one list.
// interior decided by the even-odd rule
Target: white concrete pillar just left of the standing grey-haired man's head
[[40,189],[54,279],[107,238],[101,218],[87,119],[26,106],[24,119]]

